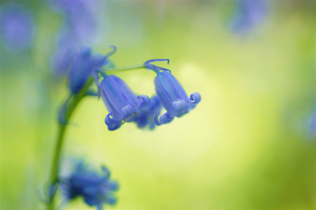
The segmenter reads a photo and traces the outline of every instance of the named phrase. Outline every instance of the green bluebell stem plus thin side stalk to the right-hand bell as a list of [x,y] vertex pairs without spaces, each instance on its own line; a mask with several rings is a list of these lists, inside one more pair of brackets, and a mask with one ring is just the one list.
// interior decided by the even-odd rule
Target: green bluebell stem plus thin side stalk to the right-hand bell
[[[137,64],[128,67],[120,67],[120,68],[109,68],[105,69],[104,71],[124,71],[124,70],[132,70],[132,69],[139,69],[145,68],[145,65]],[[56,147],[53,156],[52,162],[52,172],[49,179],[49,200],[46,204],[46,209],[55,209],[55,191],[56,187],[55,184],[58,183],[58,166],[60,162],[60,154],[61,149],[63,146],[65,131],[68,125],[68,121],[72,113],[75,111],[77,105],[81,101],[81,99],[87,95],[88,88],[91,86],[92,82],[94,81],[93,77],[90,77],[87,83],[83,86],[83,88],[79,91],[79,93],[70,95],[69,98],[64,103],[63,107],[61,108],[61,113],[59,116],[59,125],[58,125],[58,135],[56,139]],[[62,117],[61,117],[62,116]]]

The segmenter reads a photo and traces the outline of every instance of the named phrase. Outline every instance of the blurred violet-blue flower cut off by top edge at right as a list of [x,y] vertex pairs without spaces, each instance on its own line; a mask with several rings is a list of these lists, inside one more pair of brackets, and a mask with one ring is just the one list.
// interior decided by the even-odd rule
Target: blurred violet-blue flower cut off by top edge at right
[[266,15],[266,1],[239,0],[231,28],[233,32],[248,32]]

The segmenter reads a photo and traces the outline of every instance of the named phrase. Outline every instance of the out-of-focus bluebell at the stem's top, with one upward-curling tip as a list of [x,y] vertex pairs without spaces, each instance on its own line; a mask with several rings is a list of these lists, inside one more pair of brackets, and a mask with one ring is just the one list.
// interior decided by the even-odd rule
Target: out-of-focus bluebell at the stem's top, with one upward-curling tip
[[[94,54],[92,55],[91,48],[82,47],[78,54],[75,55],[73,64],[68,74],[68,84],[71,93],[78,93],[86,84],[93,71],[98,70],[108,62],[107,58],[116,51],[115,46],[112,47],[112,52],[107,55]],[[97,80],[97,79],[96,79]]]

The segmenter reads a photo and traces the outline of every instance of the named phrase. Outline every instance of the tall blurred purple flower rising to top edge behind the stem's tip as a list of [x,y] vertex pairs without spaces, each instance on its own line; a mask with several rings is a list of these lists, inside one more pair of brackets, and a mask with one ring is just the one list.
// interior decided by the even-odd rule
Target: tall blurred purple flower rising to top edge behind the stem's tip
[[91,10],[91,1],[61,0],[50,3],[64,16],[57,49],[52,57],[56,75],[63,76],[73,62],[75,49],[93,40],[96,33],[95,15]]

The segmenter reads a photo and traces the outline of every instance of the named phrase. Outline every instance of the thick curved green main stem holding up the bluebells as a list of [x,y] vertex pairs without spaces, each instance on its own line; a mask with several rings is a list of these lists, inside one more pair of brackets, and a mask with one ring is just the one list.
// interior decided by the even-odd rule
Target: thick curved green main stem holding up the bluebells
[[[69,121],[71,115],[73,114],[74,110],[76,109],[77,105],[83,98],[83,96],[86,95],[86,92],[88,88],[90,87],[91,83],[93,82],[93,78],[90,77],[86,85],[82,88],[82,90],[71,96],[71,99],[69,101],[69,104],[67,106],[66,112],[65,112],[65,120]],[[58,176],[58,166],[59,166],[59,161],[60,161],[60,153],[61,149],[63,146],[63,141],[64,141],[64,136],[65,136],[65,131],[67,128],[67,124],[59,124],[58,125],[58,135],[57,135],[57,142],[56,142],[56,148],[55,148],[55,153],[54,153],[54,158],[53,158],[53,163],[52,163],[52,172],[51,172],[51,177],[50,177],[50,184],[54,184],[57,181],[57,176]],[[55,193],[52,194],[52,197],[49,198],[49,202],[46,205],[46,209],[55,209]]]

